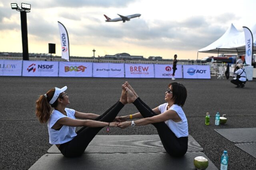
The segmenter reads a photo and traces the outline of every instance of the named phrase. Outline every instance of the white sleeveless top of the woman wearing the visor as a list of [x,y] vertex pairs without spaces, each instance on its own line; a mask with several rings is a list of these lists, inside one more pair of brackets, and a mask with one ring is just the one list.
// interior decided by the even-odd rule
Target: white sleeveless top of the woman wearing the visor
[[58,110],[53,110],[52,114],[50,115],[50,119],[48,121],[48,133],[49,133],[49,143],[54,144],[62,144],[68,141],[71,141],[77,134],[76,134],[76,127],[66,126],[63,125],[60,130],[52,129],[52,126],[58,121],[60,118],[63,117],[70,117],[72,119],[76,119],[75,117],[75,110],[65,108],[67,115],[63,115]]

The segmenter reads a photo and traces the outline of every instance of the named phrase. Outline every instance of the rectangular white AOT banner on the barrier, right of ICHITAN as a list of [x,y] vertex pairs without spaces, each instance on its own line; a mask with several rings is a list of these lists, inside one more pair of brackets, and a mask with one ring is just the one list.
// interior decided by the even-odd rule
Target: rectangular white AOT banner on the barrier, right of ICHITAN
[[184,78],[211,78],[210,66],[183,65]]

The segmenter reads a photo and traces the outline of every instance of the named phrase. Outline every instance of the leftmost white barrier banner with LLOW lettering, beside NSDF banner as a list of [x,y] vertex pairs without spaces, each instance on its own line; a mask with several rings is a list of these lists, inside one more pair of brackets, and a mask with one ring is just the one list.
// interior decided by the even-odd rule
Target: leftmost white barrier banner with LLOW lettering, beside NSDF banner
[[0,60],[0,76],[21,76],[22,60]]

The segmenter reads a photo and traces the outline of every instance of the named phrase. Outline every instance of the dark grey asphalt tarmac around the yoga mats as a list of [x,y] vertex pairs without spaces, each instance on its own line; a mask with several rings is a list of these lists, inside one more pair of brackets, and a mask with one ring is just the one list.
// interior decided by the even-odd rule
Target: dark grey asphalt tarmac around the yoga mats
[[[47,124],[39,123],[35,102],[50,88],[68,86],[69,108],[84,113],[101,114],[119,100],[121,85],[128,81],[140,98],[154,108],[164,103],[164,93],[173,80],[164,78],[61,78],[0,77],[0,169],[28,169],[51,147]],[[217,168],[223,150],[228,151],[228,169],[255,170],[256,158],[228,141],[214,129],[256,127],[256,81],[235,88],[230,80],[176,79],[186,86],[188,98],[183,110],[188,119],[189,134],[204,148]],[[226,125],[214,125],[216,112],[226,114]],[[127,104],[118,115],[138,112]],[[206,112],[210,125],[205,125]],[[78,128],[79,129],[79,128]],[[99,135],[153,135],[153,125],[126,129],[103,128]]]

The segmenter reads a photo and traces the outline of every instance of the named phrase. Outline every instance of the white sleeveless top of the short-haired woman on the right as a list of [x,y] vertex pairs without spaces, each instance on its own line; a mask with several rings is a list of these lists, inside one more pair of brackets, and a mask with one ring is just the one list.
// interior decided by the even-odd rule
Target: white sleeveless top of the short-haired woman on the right
[[[158,106],[159,111],[164,113],[167,111],[168,103],[161,104]],[[188,136],[188,121],[182,108],[176,104],[172,105],[169,110],[174,110],[179,115],[181,121],[175,122],[172,119],[165,121],[166,125],[171,129],[176,137],[187,137]]]

